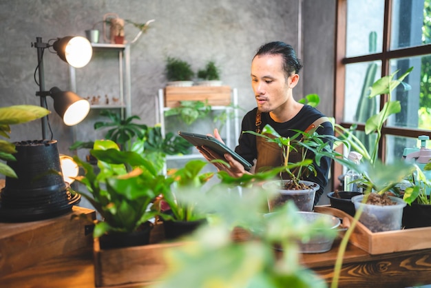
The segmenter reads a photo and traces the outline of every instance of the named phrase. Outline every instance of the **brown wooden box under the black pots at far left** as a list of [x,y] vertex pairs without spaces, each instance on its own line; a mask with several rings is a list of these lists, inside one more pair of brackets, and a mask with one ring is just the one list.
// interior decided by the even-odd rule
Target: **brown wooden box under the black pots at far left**
[[67,254],[92,247],[92,229],[84,219],[71,219],[73,214],[87,214],[93,219],[96,212],[72,207],[72,212],[47,220],[26,223],[0,223],[0,276]]

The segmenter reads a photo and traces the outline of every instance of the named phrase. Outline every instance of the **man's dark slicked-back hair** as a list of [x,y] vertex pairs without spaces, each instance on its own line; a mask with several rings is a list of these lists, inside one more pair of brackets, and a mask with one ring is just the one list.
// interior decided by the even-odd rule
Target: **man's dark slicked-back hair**
[[297,59],[293,47],[281,41],[269,42],[260,46],[253,59],[261,55],[281,55],[283,57],[283,70],[286,74],[286,79],[291,74],[298,73],[302,68],[301,60]]

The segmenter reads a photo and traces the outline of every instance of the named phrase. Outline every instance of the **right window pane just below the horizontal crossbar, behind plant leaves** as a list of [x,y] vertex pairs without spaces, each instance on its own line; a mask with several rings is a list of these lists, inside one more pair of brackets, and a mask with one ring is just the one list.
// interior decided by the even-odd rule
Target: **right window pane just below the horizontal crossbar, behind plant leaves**
[[401,112],[388,119],[388,126],[431,129],[431,55],[392,59],[391,73],[399,70],[398,79],[408,68],[412,72],[403,80],[411,89],[405,91],[402,85],[392,90],[392,100],[401,103]]

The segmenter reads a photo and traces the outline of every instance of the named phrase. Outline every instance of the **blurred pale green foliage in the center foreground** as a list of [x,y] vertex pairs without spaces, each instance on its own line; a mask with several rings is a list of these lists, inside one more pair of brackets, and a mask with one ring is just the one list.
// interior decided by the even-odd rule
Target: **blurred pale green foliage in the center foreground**
[[300,265],[297,243],[322,223],[304,222],[293,203],[263,216],[267,194],[257,186],[242,196],[222,185],[214,189],[189,199],[213,211],[214,218],[188,238],[193,241],[166,251],[168,269],[155,287],[326,287]]

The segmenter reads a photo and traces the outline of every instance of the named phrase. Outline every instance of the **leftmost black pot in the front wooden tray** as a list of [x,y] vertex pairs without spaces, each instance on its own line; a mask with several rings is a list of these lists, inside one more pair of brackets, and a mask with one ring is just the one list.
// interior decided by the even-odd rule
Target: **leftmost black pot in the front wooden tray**
[[153,229],[153,223],[146,222],[134,232],[105,234],[99,238],[99,245],[101,249],[147,245],[151,229]]

